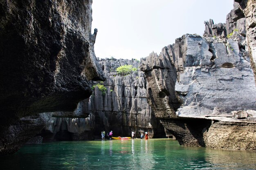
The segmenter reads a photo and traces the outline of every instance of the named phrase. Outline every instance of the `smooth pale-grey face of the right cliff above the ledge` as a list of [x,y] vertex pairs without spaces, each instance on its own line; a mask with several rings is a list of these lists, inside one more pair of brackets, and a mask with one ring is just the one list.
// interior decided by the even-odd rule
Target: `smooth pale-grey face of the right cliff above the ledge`
[[[177,86],[189,85],[187,95],[180,96],[184,102],[177,114],[180,117],[196,117],[228,114],[233,110],[256,109],[253,97],[256,95],[256,87],[252,81],[254,73],[250,68],[249,56],[240,57],[238,42],[232,39],[229,39],[227,44],[213,42],[218,58],[212,62],[211,53],[207,50],[209,47],[203,49],[202,41],[189,36],[186,39],[187,44],[191,46],[186,55],[196,56],[200,62],[193,64],[192,67],[186,67],[177,80]],[[198,45],[200,43],[201,48]],[[204,54],[200,55],[198,51]],[[204,57],[207,56],[207,52],[209,57]],[[247,94],[252,96],[248,97]]]

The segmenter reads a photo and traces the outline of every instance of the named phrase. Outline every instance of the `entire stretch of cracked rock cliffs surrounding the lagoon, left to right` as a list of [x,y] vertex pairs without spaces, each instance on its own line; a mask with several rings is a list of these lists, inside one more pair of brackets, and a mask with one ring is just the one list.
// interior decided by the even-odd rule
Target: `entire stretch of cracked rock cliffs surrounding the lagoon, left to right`
[[[209,20],[204,37],[183,35],[140,66],[135,60],[97,63],[91,4],[0,1],[1,155],[43,128],[52,140],[134,130],[150,137],[165,132],[185,146],[256,150],[255,0],[235,0],[225,24]],[[124,64],[144,73],[117,75]],[[106,93],[96,87],[85,99],[92,94],[89,81],[104,79],[102,70]]]

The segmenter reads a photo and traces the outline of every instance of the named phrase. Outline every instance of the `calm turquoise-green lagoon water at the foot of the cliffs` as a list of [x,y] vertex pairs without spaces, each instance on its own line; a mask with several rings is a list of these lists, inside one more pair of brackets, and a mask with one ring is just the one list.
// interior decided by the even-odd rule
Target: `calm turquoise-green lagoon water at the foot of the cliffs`
[[23,146],[1,170],[255,170],[255,151],[180,146],[170,139],[65,141]]

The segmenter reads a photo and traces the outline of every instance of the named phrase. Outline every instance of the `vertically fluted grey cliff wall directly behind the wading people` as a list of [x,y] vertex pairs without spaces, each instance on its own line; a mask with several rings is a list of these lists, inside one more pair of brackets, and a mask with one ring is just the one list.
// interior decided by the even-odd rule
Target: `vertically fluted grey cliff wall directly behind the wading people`
[[141,132],[149,131],[150,137],[162,136],[164,128],[155,118],[147,102],[144,73],[138,70],[120,76],[116,72],[119,66],[125,64],[138,68],[139,61],[102,59],[99,64],[107,77],[103,83],[107,87],[107,92],[106,95],[102,95],[96,87],[89,99],[88,111],[99,117],[95,132],[112,130],[115,135],[130,136],[131,131],[135,131],[136,136],[140,137]]

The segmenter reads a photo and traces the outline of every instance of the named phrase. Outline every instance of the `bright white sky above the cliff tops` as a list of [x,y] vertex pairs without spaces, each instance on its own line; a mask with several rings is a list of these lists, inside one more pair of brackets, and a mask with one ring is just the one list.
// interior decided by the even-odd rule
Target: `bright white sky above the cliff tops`
[[204,33],[204,21],[225,23],[234,0],[93,0],[97,57],[132,59],[157,54],[186,33]]

